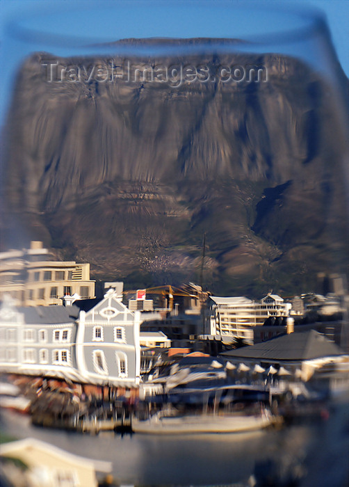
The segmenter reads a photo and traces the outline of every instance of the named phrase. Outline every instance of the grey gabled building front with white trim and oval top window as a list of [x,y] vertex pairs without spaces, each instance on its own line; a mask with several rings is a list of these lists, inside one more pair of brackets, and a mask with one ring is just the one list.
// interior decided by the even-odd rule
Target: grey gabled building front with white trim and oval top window
[[76,363],[86,383],[140,383],[140,312],[131,312],[110,289],[92,308],[83,300],[76,333]]

